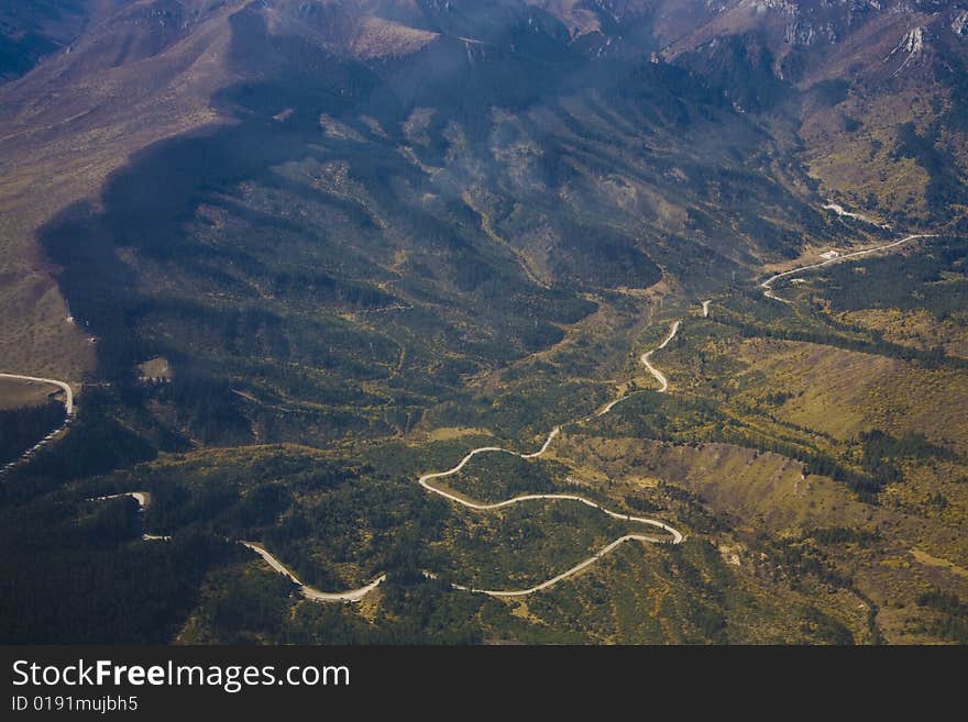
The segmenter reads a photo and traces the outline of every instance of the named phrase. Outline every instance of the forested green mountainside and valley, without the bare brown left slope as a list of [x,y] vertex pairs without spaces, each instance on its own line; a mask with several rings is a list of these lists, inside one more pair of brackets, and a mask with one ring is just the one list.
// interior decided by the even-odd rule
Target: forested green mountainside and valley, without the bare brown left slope
[[[36,231],[97,358],[76,421],[0,477],[0,640],[968,641],[960,71],[910,80],[937,103],[898,118],[888,188],[838,176],[856,137],[817,149],[860,107],[881,137],[888,91],[777,57],[767,21],[713,46],[663,35],[662,3],[585,32],[537,2],[387,1],[344,44],[317,38],[350,32],[331,3],[222,4],[230,122],[139,149]],[[41,77],[32,54],[0,93]],[[909,233],[931,235],[760,286]],[[8,406],[0,465],[61,421]],[[433,487],[579,496],[684,540],[471,592],[662,536],[418,482],[492,446]],[[133,491],[151,503],[95,500]],[[312,601],[240,540],[318,590],[386,579]]]

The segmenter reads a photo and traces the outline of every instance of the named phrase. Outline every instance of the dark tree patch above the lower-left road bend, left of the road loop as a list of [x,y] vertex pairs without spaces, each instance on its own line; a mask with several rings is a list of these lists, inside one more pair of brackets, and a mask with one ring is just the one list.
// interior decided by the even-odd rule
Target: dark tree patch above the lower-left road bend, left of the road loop
[[[449,506],[411,482],[375,481],[356,468],[315,455],[285,452],[253,459],[223,459],[139,467],[87,485],[88,493],[146,490],[147,530],[248,538],[267,547],[306,584],[343,589],[395,568],[402,535],[439,536]],[[295,498],[299,504],[294,503]],[[420,568],[438,568],[416,551]],[[346,576],[345,568],[358,576]]]

